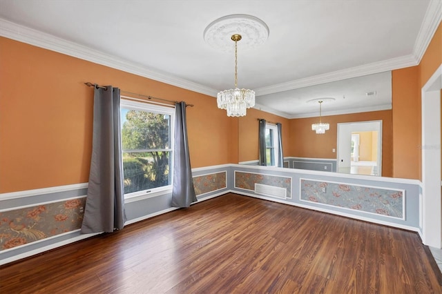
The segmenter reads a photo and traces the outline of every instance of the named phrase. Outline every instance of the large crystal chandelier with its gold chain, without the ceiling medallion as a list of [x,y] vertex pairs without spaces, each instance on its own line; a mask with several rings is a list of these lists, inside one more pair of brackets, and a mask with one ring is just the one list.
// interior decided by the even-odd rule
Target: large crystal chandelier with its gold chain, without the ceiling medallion
[[228,117],[243,117],[246,109],[255,106],[255,91],[238,88],[238,41],[241,35],[232,35],[235,41],[235,89],[218,92],[216,101],[218,108],[226,109]]

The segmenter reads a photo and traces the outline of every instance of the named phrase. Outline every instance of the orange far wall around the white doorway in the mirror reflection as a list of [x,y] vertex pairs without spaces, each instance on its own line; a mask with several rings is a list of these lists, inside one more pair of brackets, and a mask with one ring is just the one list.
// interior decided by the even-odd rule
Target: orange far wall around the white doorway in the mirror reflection
[[316,134],[311,130],[311,124],[318,121],[318,117],[290,120],[289,153],[285,156],[330,158],[335,159],[336,141],[338,138],[338,123],[352,121],[382,120],[382,175],[392,177],[392,110],[352,113],[349,115],[330,115],[322,121],[330,124],[325,134]]

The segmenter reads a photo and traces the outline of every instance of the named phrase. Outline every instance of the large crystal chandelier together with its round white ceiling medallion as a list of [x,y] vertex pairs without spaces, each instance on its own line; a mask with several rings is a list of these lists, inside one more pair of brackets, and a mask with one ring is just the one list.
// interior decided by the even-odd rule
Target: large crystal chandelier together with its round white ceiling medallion
[[224,52],[233,48],[231,41],[235,42],[235,88],[218,92],[216,99],[218,108],[227,110],[229,117],[243,117],[247,108],[255,106],[255,92],[238,88],[238,41],[244,37],[242,48],[255,48],[264,43],[268,36],[267,25],[246,14],[222,17],[210,23],[204,30],[206,43]]

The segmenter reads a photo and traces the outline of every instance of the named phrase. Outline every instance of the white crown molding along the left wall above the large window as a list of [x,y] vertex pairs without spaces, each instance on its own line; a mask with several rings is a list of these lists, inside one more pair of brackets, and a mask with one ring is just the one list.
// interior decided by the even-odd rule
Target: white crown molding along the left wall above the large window
[[138,66],[136,63],[131,63],[124,59],[120,59],[112,55],[107,55],[98,50],[93,50],[86,46],[81,46],[77,43],[66,41],[65,39],[61,39],[46,34],[44,32],[28,28],[26,26],[20,26],[17,23],[13,23],[12,21],[7,21],[6,19],[1,18],[0,36],[6,37],[8,39],[13,39],[15,41],[28,43],[40,48],[59,52],[64,55],[69,55],[72,57],[77,57],[79,59],[84,59],[86,61],[91,61],[103,66],[115,68],[117,70],[123,70],[124,72],[130,72],[134,75],[146,77],[155,81],[161,81],[166,84],[170,84],[187,90],[192,90],[194,92],[199,92],[205,95],[216,97],[216,94],[218,92],[215,89],[208,88],[201,84],[197,84],[186,79],[181,79],[179,77],[173,77],[172,75],[166,74],[164,72],[149,70],[146,67]]

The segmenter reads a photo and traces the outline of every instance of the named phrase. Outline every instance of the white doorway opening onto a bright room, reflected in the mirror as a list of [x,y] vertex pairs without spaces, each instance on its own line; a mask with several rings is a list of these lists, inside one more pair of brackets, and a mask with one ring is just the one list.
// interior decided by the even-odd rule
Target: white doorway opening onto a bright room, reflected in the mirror
[[382,121],[338,124],[338,173],[382,175]]

